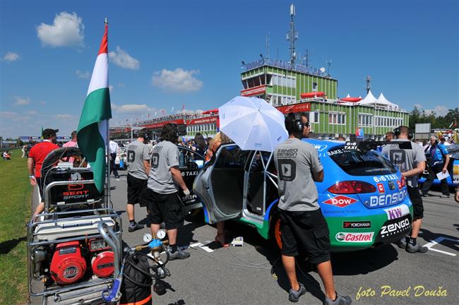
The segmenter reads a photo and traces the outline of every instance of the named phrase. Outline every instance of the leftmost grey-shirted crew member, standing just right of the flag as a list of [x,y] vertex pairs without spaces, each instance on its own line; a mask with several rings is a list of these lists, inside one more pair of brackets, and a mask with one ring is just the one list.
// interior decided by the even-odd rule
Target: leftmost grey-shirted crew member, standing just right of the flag
[[134,205],[140,203],[141,195],[147,189],[148,174],[150,174],[150,151],[144,144],[148,140],[145,131],[138,133],[137,140],[129,143],[127,151],[128,162],[128,203],[126,210],[129,218],[129,232],[143,229],[143,225],[136,222]]

